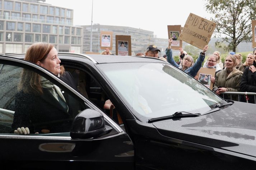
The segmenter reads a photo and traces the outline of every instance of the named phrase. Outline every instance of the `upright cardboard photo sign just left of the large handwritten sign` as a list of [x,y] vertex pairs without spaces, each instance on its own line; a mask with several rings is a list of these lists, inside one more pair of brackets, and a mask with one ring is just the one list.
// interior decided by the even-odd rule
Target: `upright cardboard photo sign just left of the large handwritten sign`
[[181,25],[167,25],[168,39],[172,38],[172,49],[178,50],[182,48],[182,40],[180,39]]

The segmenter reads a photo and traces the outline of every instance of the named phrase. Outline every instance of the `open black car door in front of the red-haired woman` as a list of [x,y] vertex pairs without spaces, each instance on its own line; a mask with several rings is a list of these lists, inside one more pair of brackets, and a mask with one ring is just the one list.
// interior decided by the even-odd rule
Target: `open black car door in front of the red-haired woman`
[[[31,86],[22,83],[33,77],[27,76],[28,72],[58,86],[68,111],[62,109],[59,113],[58,103],[51,95],[42,100],[30,93],[22,96]],[[72,139],[71,122],[85,109],[102,113],[106,126],[112,130],[95,138]],[[47,120],[47,114],[55,120]],[[31,133],[15,134],[14,130],[22,126],[24,120],[28,120]],[[10,57],[0,57],[0,146],[1,165],[8,169],[56,169],[56,166],[58,169],[134,169],[134,147],[119,125],[52,73],[36,64]]]

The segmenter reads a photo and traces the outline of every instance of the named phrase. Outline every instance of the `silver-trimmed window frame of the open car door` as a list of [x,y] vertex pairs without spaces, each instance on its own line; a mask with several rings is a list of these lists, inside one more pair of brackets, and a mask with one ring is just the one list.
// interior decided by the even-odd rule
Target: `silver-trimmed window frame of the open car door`
[[[97,106],[95,106],[92,102],[90,102],[87,98],[85,98],[82,94],[80,94],[78,91],[76,91],[74,88],[72,88],[69,84],[64,82],[62,79],[59,77],[55,76],[53,73],[48,71],[47,69],[34,64],[32,62],[23,60],[23,59],[18,59],[18,58],[13,58],[13,57],[6,57],[6,56],[0,56],[0,63],[1,64],[9,64],[9,65],[15,65],[17,67],[22,67],[22,68],[29,68],[32,71],[35,71],[39,73],[40,75],[44,76],[45,78],[49,79],[51,82],[57,84],[58,86],[63,86],[64,88],[68,89],[68,91],[71,92],[76,97],[79,97],[83,102],[87,103],[87,105],[92,108],[93,110],[99,111],[103,114],[104,120],[107,121],[115,130],[117,131],[116,134],[113,134],[111,136],[105,136],[105,137],[98,137],[96,139],[88,139],[88,140],[100,140],[100,139],[105,139],[113,136],[118,136],[124,134],[124,130],[115,122],[113,121],[109,116],[106,115],[101,109],[99,109]],[[8,135],[8,133],[5,135],[4,133],[0,134],[0,139],[1,138],[17,138],[17,139],[64,139],[64,140],[70,140],[71,137],[68,136],[36,136],[36,135]]]

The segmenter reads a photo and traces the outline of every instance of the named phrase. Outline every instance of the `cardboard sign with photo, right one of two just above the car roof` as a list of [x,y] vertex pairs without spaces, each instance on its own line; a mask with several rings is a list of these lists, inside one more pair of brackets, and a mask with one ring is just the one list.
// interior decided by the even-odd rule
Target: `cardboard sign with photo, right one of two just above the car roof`
[[116,55],[131,55],[130,35],[116,35]]

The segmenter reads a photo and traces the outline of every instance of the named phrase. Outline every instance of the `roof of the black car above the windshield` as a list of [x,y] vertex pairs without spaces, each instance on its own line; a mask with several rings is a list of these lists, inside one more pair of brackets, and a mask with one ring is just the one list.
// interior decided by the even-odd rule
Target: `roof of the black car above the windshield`
[[[166,63],[165,61],[154,58],[154,57],[138,57],[138,56],[121,56],[121,55],[100,55],[100,54],[78,54],[78,53],[66,53],[66,52],[59,52],[59,56],[65,56],[68,59],[74,60],[81,60],[83,58],[91,60],[95,64],[102,64],[102,63],[123,63],[123,62],[162,62]],[[5,56],[15,57],[23,59],[25,53],[19,54],[8,54]]]

